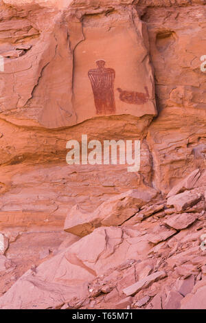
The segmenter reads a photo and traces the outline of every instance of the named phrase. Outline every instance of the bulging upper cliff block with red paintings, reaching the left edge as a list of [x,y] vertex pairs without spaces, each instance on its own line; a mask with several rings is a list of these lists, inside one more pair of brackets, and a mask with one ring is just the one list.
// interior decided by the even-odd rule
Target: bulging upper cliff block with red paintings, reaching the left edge
[[47,10],[1,22],[1,118],[58,129],[100,115],[157,114],[148,35],[135,10]]

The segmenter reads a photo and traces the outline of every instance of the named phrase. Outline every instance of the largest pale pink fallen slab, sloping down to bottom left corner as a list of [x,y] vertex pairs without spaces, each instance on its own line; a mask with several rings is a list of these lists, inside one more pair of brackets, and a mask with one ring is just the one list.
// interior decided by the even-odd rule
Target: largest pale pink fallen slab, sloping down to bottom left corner
[[128,259],[141,259],[149,249],[137,230],[100,227],[27,271],[0,298],[0,309],[46,309],[84,298],[88,282]]

